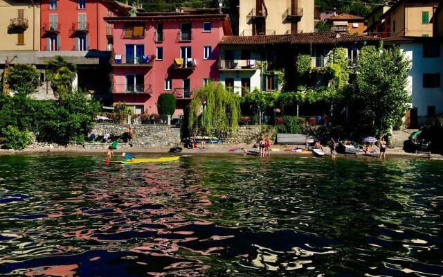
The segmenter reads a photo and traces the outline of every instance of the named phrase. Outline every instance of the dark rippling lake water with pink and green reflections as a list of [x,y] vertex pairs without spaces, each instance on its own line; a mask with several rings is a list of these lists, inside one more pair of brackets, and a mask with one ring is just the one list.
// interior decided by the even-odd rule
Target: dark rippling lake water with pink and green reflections
[[0,157],[0,275],[441,276],[443,162]]

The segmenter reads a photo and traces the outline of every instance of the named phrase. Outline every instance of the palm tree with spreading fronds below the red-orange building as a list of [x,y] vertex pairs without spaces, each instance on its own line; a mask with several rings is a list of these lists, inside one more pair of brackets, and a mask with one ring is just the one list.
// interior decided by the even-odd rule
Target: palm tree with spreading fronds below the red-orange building
[[64,57],[55,56],[55,60],[46,61],[46,75],[55,93],[71,92],[72,83],[77,77],[77,66]]

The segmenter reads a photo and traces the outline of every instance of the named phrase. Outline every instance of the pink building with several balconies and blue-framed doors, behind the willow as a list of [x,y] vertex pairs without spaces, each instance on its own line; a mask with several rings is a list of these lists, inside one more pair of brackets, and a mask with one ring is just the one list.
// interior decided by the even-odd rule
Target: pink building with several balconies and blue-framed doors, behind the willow
[[173,93],[174,115],[183,114],[194,89],[218,80],[218,44],[231,35],[227,15],[140,13],[105,20],[114,25],[114,103],[126,102],[134,114],[156,113],[161,93]]

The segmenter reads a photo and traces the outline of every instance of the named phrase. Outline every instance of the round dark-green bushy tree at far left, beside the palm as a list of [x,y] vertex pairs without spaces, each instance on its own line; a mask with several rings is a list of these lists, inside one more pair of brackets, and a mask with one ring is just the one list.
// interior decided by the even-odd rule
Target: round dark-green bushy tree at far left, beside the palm
[[33,65],[15,64],[9,71],[8,84],[15,93],[28,95],[39,87],[40,73]]

